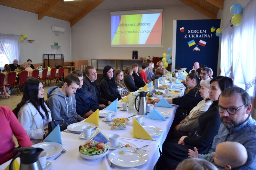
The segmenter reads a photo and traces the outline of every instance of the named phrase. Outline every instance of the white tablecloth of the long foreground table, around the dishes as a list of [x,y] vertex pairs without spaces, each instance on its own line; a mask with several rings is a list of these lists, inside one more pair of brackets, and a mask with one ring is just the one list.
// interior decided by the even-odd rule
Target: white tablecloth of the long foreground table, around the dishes
[[[184,89],[182,91],[182,95],[184,93]],[[162,91],[164,90],[159,90],[156,89],[157,91]],[[153,97],[155,98],[155,97]],[[168,98],[166,98],[168,99]],[[119,101],[120,102],[120,101]],[[158,158],[160,157],[160,152],[159,149],[162,150],[162,145],[163,142],[167,136],[167,133],[170,129],[170,126],[172,125],[174,116],[175,116],[175,111],[177,109],[176,105],[173,105],[173,108],[166,108],[166,107],[154,107],[156,108],[159,112],[169,112],[171,113],[171,116],[166,118],[166,121],[162,120],[154,120],[154,119],[148,119],[148,118],[143,118],[143,122],[145,122],[145,126],[154,126],[157,128],[161,128],[163,130],[163,133],[159,136],[154,136],[152,137],[155,141],[152,140],[145,140],[145,139],[137,139],[133,138],[133,126],[132,124],[132,119],[129,121],[130,124],[126,126],[126,129],[124,130],[111,130],[111,127],[106,124],[102,118],[99,118],[99,126],[104,133],[107,135],[110,134],[119,134],[120,139],[119,142],[122,144],[130,144],[134,148],[140,148],[144,145],[149,145],[145,148],[144,150],[149,151],[148,154],[148,161],[144,163],[143,165],[128,168],[128,167],[120,167],[116,166],[114,169],[145,169],[145,170],[152,170],[154,169],[155,164],[157,163]],[[129,117],[132,116],[132,113],[128,113],[127,111],[122,111],[120,109],[117,109],[117,113],[113,116],[115,118],[122,118],[122,117]],[[93,131],[92,131],[93,133]],[[60,157],[56,160],[58,155],[47,158],[47,160],[51,161],[52,167],[51,169],[75,169],[75,170],[84,170],[84,169],[113,169],[109,166],[109,161],[108,155],[111,153],[113,150],[109,150],[107,156],[100,158],[98,160],[86,160],[82,158],[78,154],[78,147],[79,145],[83,145],[86,139],[80,139],[78,134],[75,133],[66,133],[64,131],[61,132],[61,137],[62,137],[62,145],[63,148],[66,148],[66,153],[60,155]],[[0,166],[0,169],[5,168],[10,161],[2,164]]]

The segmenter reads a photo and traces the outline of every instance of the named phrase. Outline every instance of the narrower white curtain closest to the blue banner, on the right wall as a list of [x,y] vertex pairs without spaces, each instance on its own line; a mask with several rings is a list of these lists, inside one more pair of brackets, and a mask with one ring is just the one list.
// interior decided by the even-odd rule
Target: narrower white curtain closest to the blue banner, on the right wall
[[232,27],[227,24],[222,31],[221,38],[221,74],[222,76],[232,76]]

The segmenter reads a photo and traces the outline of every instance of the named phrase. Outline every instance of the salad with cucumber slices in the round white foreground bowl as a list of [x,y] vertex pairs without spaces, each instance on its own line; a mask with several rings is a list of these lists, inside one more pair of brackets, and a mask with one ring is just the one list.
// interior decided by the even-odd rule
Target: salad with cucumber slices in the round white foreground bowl
[[84,155],[100,155],[108,151],[104,143],[92,140],[84,145],[79,146],[79,152]]

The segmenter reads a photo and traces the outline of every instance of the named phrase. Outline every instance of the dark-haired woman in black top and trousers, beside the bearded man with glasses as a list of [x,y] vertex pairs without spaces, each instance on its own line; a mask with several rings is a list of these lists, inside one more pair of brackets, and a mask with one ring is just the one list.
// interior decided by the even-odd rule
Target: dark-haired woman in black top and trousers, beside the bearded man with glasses
[[231,86],[231,78],[218,76],[210,81],[209,98],[213,104],[198,118],[199,127],[190,135],[181,133],[180,138],[166,140],[163,143],[163,154],[157,161],[157,169],[175,168],[178,163],[188,156],[188,149],[197,147],[199,154],[207,154],[211,147],[214,136],[218,134],[221,124],[219,112],[215,108],[221,92]]

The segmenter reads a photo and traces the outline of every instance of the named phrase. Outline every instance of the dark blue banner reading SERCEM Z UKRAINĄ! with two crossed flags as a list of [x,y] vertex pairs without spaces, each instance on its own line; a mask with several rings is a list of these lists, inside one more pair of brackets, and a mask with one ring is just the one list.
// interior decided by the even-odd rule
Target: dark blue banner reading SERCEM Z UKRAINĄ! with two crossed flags
[[189,72],[195,62],[213,70],[216,76],[218,64],[220,19],[177,20],[175,66],[186,67]]

